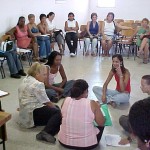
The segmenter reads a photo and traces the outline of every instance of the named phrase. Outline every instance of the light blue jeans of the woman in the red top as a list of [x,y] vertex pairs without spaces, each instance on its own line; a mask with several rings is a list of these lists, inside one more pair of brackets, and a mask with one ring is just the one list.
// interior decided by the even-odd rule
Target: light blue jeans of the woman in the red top
[[[97,97],[97,99],[99,100],[99,102],[102,103],[103,88],[99,86],[94,86],[93,92],[95,96]],[[116,102],[117,104],[128,103],[130,99],[130,94],[121,93],[121,92],[118,92],[117,90],[107,89],[106,98],[107,98],[107,103],[110,101]]]

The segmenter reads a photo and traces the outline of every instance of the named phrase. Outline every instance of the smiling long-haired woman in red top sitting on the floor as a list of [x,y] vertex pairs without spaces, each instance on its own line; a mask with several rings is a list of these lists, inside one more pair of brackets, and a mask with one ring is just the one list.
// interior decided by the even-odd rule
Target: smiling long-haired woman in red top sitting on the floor
[[[117,86],[115,90],[107,89],[111,79],[115,77]],[[109,103],[116,107],[120,103],[128,103],[130,99],[130,72],[124,67],[122,55],[112,56],[112,69],[103,85],[103,87],[93,87],[93,92],[97,99],[102,103]]]

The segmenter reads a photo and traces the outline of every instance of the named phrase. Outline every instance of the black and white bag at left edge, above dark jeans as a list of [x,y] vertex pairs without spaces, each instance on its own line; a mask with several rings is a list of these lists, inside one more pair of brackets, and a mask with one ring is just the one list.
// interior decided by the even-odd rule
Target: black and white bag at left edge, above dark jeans
[[12,51],[14,46],[13,41],[4,41],[1,43],[0,52],[5,53],[6,51]]

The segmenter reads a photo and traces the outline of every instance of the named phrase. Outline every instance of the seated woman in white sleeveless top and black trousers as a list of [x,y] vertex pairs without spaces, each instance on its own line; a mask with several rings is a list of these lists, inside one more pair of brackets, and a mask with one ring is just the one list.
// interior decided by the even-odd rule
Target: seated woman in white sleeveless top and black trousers
[[[70,12],[68,14],[68,20],[65,22],[65,31],[66,31],[65,39],[66,39],[68,48],[70,50],[71,57],[74,57],[77,51],[78,30],[79,30],[78,22],[75,21],[74,14]],[[73,41],[73,44],[71,41]]]

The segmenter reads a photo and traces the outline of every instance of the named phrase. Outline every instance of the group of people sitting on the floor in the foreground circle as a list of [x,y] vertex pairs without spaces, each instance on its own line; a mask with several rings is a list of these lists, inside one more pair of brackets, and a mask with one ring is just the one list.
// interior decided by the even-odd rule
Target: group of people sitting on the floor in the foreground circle
[[[88,83],[83,79],[67,81],[61,63],[62,55],[53,51],[48,62],[43,65],[35,62],[23,79],[19,90],[19,124],[25,128],[45,126],[36,135],[36,139],[55,143],[58,133],[59,143],[70,149],[93,149],[99,145],[104,131],[105,117],[101,104],[110,104],[113,108],[130,99],[130,72],[124,66],[120,54],[112,56],[112,69],[103,87],[93,87],[98,100],[88,99]],[[58,72],[61,83],[55,83]],[[107,89],[112,78],[116,80],[116,89]],[[150,95],[150,75],[142,77],[141,89]],[[65,98],[61,109],[53,102]],[[120,125],[130,134],[137,136],[138,148],[150,148],[150,98],[137,101],[130,109],[129,116],[121,116]],[[97,123],[97,127],[93,122]],[[133,136],[122,139],[127,144]]]

